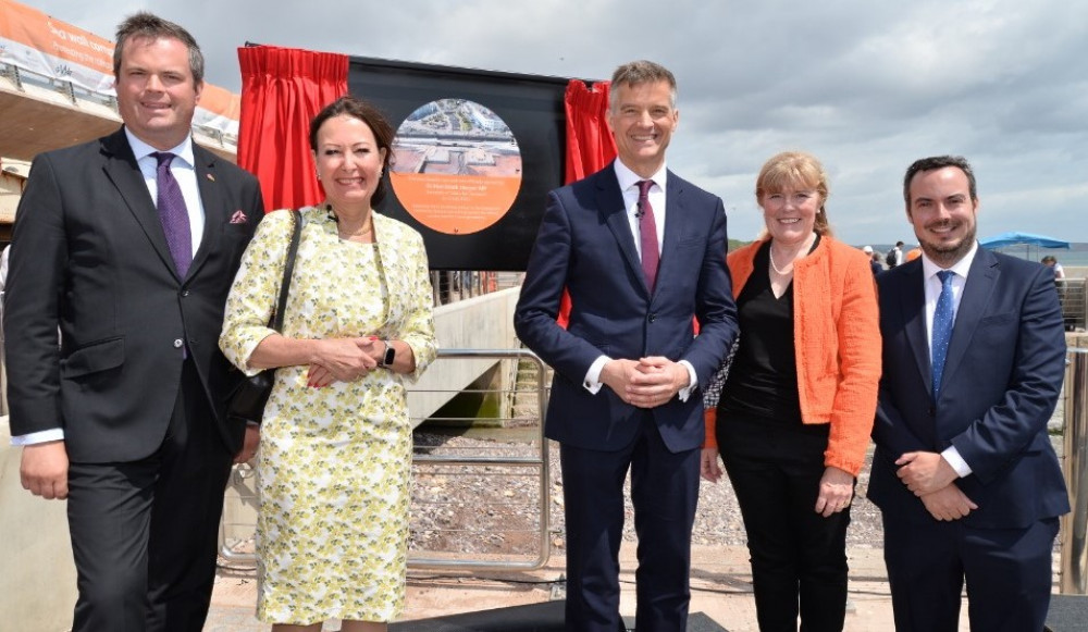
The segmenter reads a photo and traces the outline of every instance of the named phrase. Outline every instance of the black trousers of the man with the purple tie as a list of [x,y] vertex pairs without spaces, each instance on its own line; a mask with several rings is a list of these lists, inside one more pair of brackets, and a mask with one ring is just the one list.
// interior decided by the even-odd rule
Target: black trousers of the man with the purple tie
[[146,459],[70,463],[73,632],[199,632],[215,579],[233,456],[191,360],[166,436]]

